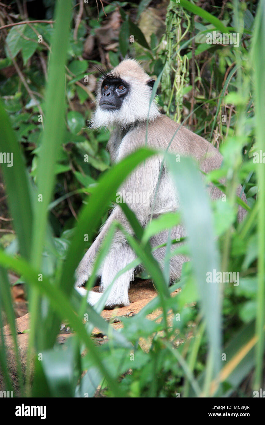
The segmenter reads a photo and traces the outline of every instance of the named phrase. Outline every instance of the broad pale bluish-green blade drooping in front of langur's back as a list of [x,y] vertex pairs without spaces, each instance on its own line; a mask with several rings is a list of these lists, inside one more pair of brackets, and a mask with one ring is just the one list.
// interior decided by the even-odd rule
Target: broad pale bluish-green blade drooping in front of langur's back
[[214,358],[214,373],[217,374],[221,355],[221,294],[216,283],[206,282],[207,272],[219,270],[219,253],[214,241],[210,201],[194,161],[181,158],[176,166],[174,156],[166,154],[165,158],[182,205],[210,352]]

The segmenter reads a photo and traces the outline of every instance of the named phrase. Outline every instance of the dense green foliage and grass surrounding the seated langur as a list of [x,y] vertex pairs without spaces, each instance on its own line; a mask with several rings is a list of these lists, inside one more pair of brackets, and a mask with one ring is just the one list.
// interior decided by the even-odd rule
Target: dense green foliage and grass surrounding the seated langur
[[[0,306],[14,336],[17,393],[92,397],[101,385],[102,393],[116,397],[251,397],[264,386],[265,2],[258,10],[250,1],[187,0],[114,1],[103,9],[101,2],[74,7],[65,0],[57,11],[53,0],[43,0],[38,10],[34,3],[23,2],[26,11],[22,2],[0,5],[0,151],[14,153],[12,167],[1,164],[8,198],[0,203],[0,215],[14,222],[0,218]],[[14,25],[25,20],[33,23]],[[209,43],[214,31],[238,34],[238,45]],[[117,188],[154,154],[142,149],[110,167],[108,130],[89,128],[98,65],[115,66],[127,54],[157,77],[153,95],[160,83],[161,111],[219,148],[222,167],[207,181],[219,185],[225,178],[226,187],[222,199],[208,203],[194,164],[183,159],[176,167],[165,153],[172,177],[182,182],[182,217],[168,214],[143,230],[124,207],[135,232],[126,236],[158,296],[134,317],[121,318],[123,329],[115,331],[100,317],[102,303],[94,311],[72,287],[74,269],[105,221]],[[248,205],[235,196],[239,182]],[[240,224],[238,203],[248,211]],[[152,259],[148,241],[180,219],[187,224],[188,243],[171,242],[191,262],[185,263],[180,282],[167,289],[168,276]],[[169,256],[165,270],[168,262]],[[207,282],[205,273],[213,269],[240,278]],[[26,382],[8,270],[28,292]],[[95,274],[88,287],[94,282]],[[159,320],[146,317],[158,308]],[[56,336],[65,320],[76,334],[62,348]],[[100,346],[90,337],[94,327],[108,336]],[[1,338],[1,370],[11,389]],[[58,377],[53,371],[62,364]]]

